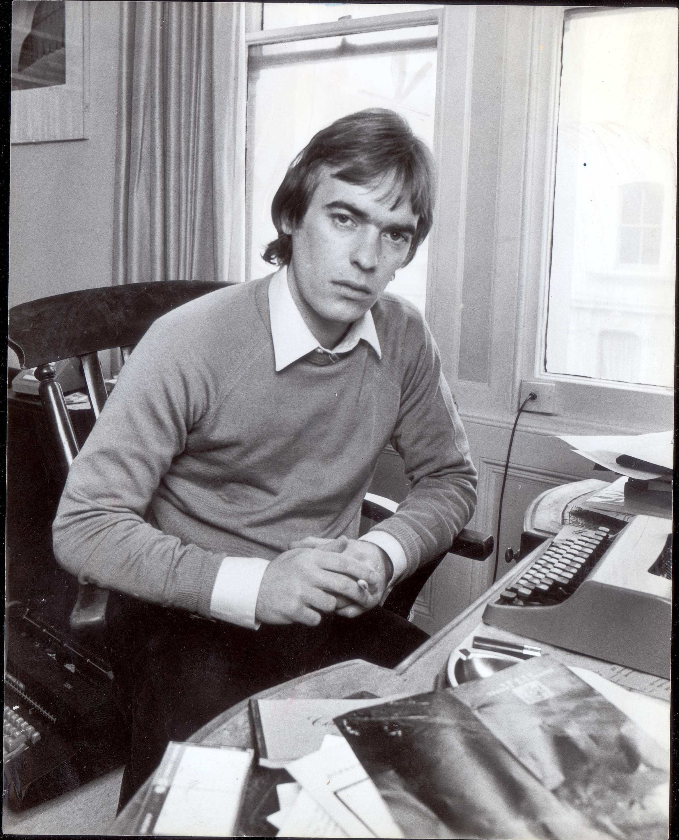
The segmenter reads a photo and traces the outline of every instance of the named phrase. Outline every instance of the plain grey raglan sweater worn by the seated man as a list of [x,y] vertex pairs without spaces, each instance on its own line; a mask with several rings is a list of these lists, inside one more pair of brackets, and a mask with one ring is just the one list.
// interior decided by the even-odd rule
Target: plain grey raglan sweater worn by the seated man
[[270,277],[214,291],[144,336],[71,466],[53,528],[60,564],[146,601],[210,615],[225,556],[272,559],[308,535],[358,536],[391,442],[411,490],[379,530],[406,575],[447,549],[476,471],[429,328],[384,294],[334,364],[274,369]]

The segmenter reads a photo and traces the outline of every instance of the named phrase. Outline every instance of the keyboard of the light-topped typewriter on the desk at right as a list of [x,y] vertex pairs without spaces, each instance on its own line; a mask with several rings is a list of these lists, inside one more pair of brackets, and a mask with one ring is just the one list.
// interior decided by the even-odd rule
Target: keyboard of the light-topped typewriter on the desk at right
[[498,603],[513,606],[558,604],[572,595],[608,548],[610,532],[603,526],[551,543],[519,580],[507,587]]

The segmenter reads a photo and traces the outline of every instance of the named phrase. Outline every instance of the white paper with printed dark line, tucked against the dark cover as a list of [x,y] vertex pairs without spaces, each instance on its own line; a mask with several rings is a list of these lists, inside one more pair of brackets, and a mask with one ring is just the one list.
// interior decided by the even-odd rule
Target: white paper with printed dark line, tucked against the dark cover
[[286,766],[347,837],[403,837],[379,791],[342,737]]

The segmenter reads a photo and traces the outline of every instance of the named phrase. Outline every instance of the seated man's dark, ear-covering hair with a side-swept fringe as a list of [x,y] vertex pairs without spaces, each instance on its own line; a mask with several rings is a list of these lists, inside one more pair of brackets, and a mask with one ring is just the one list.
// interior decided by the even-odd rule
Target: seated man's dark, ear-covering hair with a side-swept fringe
[[350,184],[370,184],[394,174],[399,194],[410,192],[410,206],[418,221],[407,265],[433,221],[435,165],[430,150],[410,125],[388,108],[367,108],[337,119],[300,151],[271,204],[278,238],[269,242],[262,258],[272,265],[290,263],[292,237],[284,233],[283,224],[292,228],[300,224],[323,167],[330,167],[334,177]]

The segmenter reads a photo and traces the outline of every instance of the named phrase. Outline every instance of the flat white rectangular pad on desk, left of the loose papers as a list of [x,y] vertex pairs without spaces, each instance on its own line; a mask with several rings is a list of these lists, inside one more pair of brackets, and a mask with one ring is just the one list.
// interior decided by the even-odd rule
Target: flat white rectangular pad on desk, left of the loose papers
[[231,836],[253,755],[252,749],[170,741],[144,797],[134,833]]

